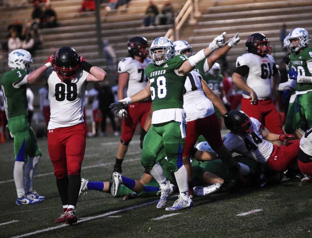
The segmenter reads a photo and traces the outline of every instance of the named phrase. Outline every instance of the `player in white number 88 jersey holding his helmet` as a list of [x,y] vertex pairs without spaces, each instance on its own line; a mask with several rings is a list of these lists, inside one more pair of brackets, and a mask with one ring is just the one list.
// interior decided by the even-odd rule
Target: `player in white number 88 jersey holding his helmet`
[[47,84],[49,88],[48,150],[63,205],[56,223],[77,222],[75,206],[85,153],[83,102],[86,84],[101,82],[105,77],[103,69],[86,62],[73,48],[62,47],[27,78],[31,84]]

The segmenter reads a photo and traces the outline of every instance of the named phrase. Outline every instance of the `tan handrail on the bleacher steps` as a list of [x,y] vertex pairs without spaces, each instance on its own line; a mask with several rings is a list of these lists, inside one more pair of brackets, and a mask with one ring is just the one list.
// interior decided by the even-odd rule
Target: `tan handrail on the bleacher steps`
[[188,0],[185,2],[178,16],[174,19],[174,28],[170,28],[167,31],[165,37],[168,37],[172,41],[179,39],[179,31],[188,16],[190,16],[190,20],[188,21],[188,23],[191,25],[195,25],[197,21],[194,16],[201,16],[201,12],[198,11],[198,0]]

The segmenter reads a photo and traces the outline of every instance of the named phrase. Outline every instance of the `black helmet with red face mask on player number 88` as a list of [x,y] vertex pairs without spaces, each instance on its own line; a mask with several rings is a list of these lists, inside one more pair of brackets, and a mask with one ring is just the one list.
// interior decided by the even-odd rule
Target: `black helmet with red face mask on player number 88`
[[80,64],[80,57],[76,50],[64,46],[55,53],[55,70],[57,76],[64,83],[69,83],[77,74]]

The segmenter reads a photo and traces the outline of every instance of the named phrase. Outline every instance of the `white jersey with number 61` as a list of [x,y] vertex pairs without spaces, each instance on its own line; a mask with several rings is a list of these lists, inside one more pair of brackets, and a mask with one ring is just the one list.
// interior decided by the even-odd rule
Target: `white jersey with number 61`
[[[236,67],[247,65],[249,74],[245,76],[246,84],[252,88],[259,99],[271,97],[271,78],[273,74],[274,58],[265,55],[246,53],[239,56],[236,60]],[[249,98],[250,93],[243,91],[243,97]]]

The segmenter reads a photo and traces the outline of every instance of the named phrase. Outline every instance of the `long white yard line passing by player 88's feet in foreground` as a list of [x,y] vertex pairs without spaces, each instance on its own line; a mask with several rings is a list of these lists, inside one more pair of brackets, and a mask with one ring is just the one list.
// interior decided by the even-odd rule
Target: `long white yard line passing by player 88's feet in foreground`
[[[138,207],[144,207],[146,205],[149,205],[149,204],[152,204],[152,203],[156,203],[158,202],[159,200],[154,200],[152,202],[145,202],[143,204],[140,204],[140,205],[135,205],[135,206],[132,206],[132,207],[127,207],[127,208],[124,208],[124,209],[121,209],[121,210],[117,210],[117,211],[113,211],[113,212],[106,212],[104,214],[101,214],[101,215],[98,215],[98,216],[94,216],[94,217],[85,217],[85,218],[80,218],[77,223],[80,223],[80,222],[85,222],[85,221],[91,221],[91,220],[94,220],[94,219],[97,219],[97,218],[101,218],[101,217],[110,217],[111,215],[113,214],[116,214],[116,213],[120,213],[120,212],[125,212],[125,211],[128,211],[128,210],[132,210],[134,208],[138,208]],[[55,229],[58,229],[58,228],[62,228],[64,226],[68,226],[66,224],[62,224],[62,225],[58,225],[58,226],[54,226],[54,227],[49,227],[49,228],[46,228],[46,229],[42,229],[42,230],[38,230],[38,231],[34,231],[34,232],[30,232],[30,233],[27,233],[27,234],[23,234],[23,235],[20,235],[20,236],[13,236],[11,238],[19,238],[19,237],[25,237],[25,236],[32,236],[32,235],[36,235],[36,234],[39,234],[39,233],[42,233],[42,232],[45,232],[45,231],[52,231],[52,230],[55,230]]]

